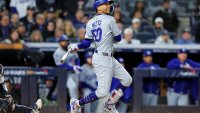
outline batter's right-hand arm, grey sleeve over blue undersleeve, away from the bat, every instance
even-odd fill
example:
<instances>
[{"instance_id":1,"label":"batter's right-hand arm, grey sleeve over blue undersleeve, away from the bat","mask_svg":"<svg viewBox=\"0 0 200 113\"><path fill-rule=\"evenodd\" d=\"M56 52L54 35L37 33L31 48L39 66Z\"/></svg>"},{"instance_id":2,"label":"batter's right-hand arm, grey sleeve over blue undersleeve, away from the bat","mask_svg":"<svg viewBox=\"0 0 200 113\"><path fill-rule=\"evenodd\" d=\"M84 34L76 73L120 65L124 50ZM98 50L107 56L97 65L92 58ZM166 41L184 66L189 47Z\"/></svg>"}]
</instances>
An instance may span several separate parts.
<instances>
[{"instance_id":1,"label":"batter's right-hand arm, grey sleeve over blue undersleeve, away from the bat","mask_svg":"<svg viewBox=\"0 0 200 113\"><path fill-rule=\"evenodd\" d=\"M114 40L117 41L117 42L120 42L121 41L121 31L119 30L119 28L117 27L117 24L116 24L116 21L114 18L111 19L111 30L112 30L112 33L114 35Z\"/></svg>"}]
</instances>

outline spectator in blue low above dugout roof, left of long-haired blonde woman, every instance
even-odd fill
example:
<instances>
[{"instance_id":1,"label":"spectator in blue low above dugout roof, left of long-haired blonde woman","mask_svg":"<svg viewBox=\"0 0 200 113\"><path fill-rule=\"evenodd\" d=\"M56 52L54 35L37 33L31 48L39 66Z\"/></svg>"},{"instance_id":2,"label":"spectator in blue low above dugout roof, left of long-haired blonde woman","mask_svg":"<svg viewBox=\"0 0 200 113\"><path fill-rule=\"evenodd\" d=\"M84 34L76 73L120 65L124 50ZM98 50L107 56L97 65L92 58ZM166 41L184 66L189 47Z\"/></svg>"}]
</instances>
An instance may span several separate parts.
<instances>
[{"instance_id":1,"label":"spectator in blue low above dugout roof, left of long-haired blonde woman","mask_svg":"<svg viewBox=\"0 0 200 113\"><path fill-rule=\"evenodd\" d=\"M54 37L46 39L46 42L58 42L62 35L64 35L64 31L62 29L56 29Z\"/></svg>"}]
</instances>

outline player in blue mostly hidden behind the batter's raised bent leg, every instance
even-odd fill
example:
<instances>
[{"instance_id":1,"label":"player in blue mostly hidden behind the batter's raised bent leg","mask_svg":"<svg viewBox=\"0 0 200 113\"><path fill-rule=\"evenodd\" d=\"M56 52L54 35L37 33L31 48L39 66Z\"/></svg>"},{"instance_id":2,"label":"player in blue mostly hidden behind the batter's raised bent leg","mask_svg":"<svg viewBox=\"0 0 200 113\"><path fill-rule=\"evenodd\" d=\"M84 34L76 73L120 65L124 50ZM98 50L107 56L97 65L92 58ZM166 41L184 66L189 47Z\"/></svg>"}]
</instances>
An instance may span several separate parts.
<instances>
[{"instance_id":1,"label":"player in blue mostly hidden behind the batter's raised bent leg","mask_svg":"<svg viewBox=\"0 0 200 113\"><path fill-rule=\"evenodd\" d=\"M117 61L123 66L125 67L124 64L124 59L123 58L117 58ZM120 84L120 81L116 78L112 78L112 83L111 83L111 88L110 91L114 91L115 88L117 87L117 85ZM133 96L133 87L129 86L125 91L123 96L121 97L121 99L119 100L118 106L117 106L117 110L119 111L119 113L127 113L127 109L128 109L128 103L130 103L132 101L132 96Z\"/></svg>"}]
</instances>

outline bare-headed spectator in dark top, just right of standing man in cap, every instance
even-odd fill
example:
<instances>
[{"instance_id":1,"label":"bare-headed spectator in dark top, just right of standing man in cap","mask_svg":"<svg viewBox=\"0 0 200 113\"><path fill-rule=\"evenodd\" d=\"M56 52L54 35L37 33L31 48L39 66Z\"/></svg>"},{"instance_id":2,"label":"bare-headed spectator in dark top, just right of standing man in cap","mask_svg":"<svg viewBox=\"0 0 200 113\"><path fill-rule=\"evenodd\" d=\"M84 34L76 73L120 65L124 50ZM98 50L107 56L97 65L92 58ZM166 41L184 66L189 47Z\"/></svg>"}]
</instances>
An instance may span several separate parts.
<instances>
[{"instance_id":1,"label":"bare-headed spectator in dark top, just right of standing man in cap","mask_svg":"<svg viewBox=\"0 0 200 113\"><path fill-rule=\"evenodd\" d=\"M36 24L32 26L31 31L40 30L40 32L43 33L44 29L45 29L45 16L43 14L37 14Z\"/></svg>"}]
</instances>

